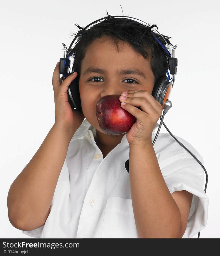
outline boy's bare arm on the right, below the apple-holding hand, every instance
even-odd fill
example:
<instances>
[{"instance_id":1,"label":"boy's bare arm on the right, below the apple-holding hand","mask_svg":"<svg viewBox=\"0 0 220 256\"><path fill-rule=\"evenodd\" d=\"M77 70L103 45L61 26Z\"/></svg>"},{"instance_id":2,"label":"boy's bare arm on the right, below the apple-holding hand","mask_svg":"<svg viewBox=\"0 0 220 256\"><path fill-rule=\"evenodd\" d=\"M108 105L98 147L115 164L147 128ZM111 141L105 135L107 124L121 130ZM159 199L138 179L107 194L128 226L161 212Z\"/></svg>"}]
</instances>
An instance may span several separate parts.
<instances>
[{"instance_id":1,"label":"boy's bare arm on the right, below the apple-holding hand","mask_svg":"<svg viewBox=\"0 0 220 256\"><path fill-rule=\"evenodd\" d=\"M139 238L182 238L192 194L165 183L153 145L130 145L129 175L132 206Z\"/></svg>"}]
</instances>

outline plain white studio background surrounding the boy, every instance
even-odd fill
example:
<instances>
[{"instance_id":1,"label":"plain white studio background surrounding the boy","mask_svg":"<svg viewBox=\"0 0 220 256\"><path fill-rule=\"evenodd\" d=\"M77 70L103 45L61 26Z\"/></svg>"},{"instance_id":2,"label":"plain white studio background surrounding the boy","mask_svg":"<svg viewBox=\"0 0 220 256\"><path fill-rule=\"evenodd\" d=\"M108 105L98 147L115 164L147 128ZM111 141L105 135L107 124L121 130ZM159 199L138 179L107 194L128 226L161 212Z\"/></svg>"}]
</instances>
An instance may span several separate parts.
<instances>
[{"instance_id":1,"label":"plain white studio background surrounding the boy","mask_svg":"<svg viewBox=\"0 0 220 256\"><path fill-rule=\"evenodd\" d=\"M75 3L74 3L75 2ZM110 15L158 25L177 44L179 60L164 123L188 141L208 172L207 226L200 238L219 238L219 1L4 1L1 4L1 238L30 238L8 220L10 184L54 125L52 74L77 23ZM71 61L72 62L72 61ZM72 68L72 63L71 63ZM159 120L160 121L160 120ZM158 121L158 122L159 122ZM162 125L160 132L167 132ZM196 161L196 160L195 160ZM199 163L198 163L199 164ZM206 176L204 173L204 186ZM193 238L197 238L196 234Z\"/></svg>"}]
</instances>

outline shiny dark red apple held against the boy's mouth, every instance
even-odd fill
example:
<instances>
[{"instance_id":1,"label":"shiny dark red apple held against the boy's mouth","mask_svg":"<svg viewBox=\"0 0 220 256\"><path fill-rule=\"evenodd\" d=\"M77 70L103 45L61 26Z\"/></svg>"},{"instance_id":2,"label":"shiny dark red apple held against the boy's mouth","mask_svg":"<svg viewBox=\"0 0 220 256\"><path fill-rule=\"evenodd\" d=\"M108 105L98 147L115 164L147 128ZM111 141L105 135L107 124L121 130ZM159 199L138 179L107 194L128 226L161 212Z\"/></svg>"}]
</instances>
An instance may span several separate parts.
<instances>
[{"instance_id":1,"label":"shiny dark red apple held against the boy's mouth","mask_svg":"<svg viewBox=\"0 0 220 256\"><path fill-rule=\"evenodd\" d=\"M135 116L121 107L120 96L119 94L106 95L96 103L96 117L99 127L107 134L124 134L131 129L137 120Z\"/></svg>"}]
</instances>

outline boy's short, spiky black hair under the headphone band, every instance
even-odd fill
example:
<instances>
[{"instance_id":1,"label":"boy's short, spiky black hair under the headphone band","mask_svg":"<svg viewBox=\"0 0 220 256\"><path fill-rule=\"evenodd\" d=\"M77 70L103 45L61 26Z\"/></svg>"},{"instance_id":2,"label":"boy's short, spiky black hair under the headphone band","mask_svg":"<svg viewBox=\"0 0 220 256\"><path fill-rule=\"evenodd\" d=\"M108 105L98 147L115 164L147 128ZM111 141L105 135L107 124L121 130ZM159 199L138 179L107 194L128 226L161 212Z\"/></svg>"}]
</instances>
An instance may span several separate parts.
<instances>
[{"instance_id":1,"label":"boy's short, spiky black hair under the headphone band","mask_svg":"<svg viewBox=\"0 0 220 256\"><path fill-rule=\"evenodd\" d=\"M80 27L76 23L74 24L79 30L77 33L72 33L70 35L73 37L77 36L75 41L76 44L70 49L70 52L74 52L72 71L77 72L78 81L80 79L81 61L85 57L88 45L91 44L94 39L100 38L102 34L111 37L116 44L117 49L119 40L122 40L129 43L132 48L145 59L147 58L154 74L154 83L159 77L166 75L166 70L168 70L169 67L168 55L159 45L159 42L154 38L152 33L156 35L166 49L166 42L169 46L172 45L169 41L171 37L162 34L166 40L165 42L159 33L153 32L153 28L157 27L157 25L147 26L129 18L115 18L109 15L108 12L104 18L105 19L101 22L96 23L87 29Z\"/></svg>"}]
</instances>

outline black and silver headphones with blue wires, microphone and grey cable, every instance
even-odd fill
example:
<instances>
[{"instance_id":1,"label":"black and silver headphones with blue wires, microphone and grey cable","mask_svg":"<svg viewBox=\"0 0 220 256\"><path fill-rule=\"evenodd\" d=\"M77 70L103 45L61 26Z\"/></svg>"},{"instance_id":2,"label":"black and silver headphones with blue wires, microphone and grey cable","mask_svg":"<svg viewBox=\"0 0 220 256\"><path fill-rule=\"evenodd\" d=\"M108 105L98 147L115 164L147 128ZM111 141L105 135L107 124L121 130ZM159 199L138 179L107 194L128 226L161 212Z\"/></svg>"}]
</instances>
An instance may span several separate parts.
<instances>
[{"instance_id":1,"label":"black and silver headphones with blue wires, microphone and grey cable","mask_svg":"<svg viewBox=\"0 0 220 256\"><path fill-rule=\"evenodd\" d=\"M108 17L127 17L130 18L128 20L132 20L132 19L136 19L136 18L133 18L133 17L129 17L129 16L111 16L111 15L108 15L107 17L105 18L101 18L101 19L97 19L95 20L94 22L90 23L89 25L87 25L86 27L82 28L81 30L85 30L87 27L89 27L90 25L92 24L95 24L97 22L99 22L100 20L103 20L103 19L108 19ZM132 19L131 19L132 18ZM140 20L140 19L136 19L136 20ZM140 20L142 22L144 22L143 20ZM139 22L133 20L133 22L136 22L138 24L140 24ZM146 23L146 22L144 22ZM146 23L147 24L147 23ZM149 24L148 24L149 25ZM150 26L150 25L149 25ZM153 28L155 29L155 28ZM151 29L151 33L153 32L153 29ZM157 29L155 29L157 31ZM158 32L158 31L157 31ZM159 32L158 32L159 33ZM160 33L159 33L160 34ZM166 128L166 130L170 133L170 135L182 146L184 147L188 152L189 154L191 154L195 159L196 161L202 166L202 168L204 169L205 171L205 174L206 174L206 183L205 183L205 193L206 193L206 187L207 187L207 184L208 184L208 174L206 172L206 169L205 167L202 165L202 163L199 161L199 159L192 154L191 151L188 150L187 147L185 147L180 141L177 140L177 138L174 137L174 135L168 130L168 128L166 127L166 125L164 124L163 122L163 119L164 119L164 116L165 114L167 113L167 111L172 107L172 102L169 100L169 97L170 97L170 94L171 94L171 90L173 88L173 85L174 85L174 80L175 80L175 74L176 74L176 71L177 71L177 66L178 66L178 59L174 57L174 52L175 52L175 49L177 47L177 45L175 45L172 49L172 55L171 55L171 51L170 51L170 47L169 45L167 44L165 38L162 36L162 38L164 39L164 41L166 42L166 45L169 49L169 51L165 48L165 46L161 43L161 41L152 33L152 35L154 36L154 38L158 41L158 43L160 44L160 46L164 49L164 51L166 52L166 54L168 55L168 62L169 62L169 70L170 70L170 74L172 74L172 78L170 79L170 75L169 75L169 72L168 70L166 71L166 74L167 76L161 76L154 84L154 87L153 87L153 91L151 93L151 95L153 96L153 98L155 100L157 100L158 102L160 102L161 106L162 106L162 109L164 109L163 111L163 116L161 118L160 116L160 125L159 125L159 128L158 128L158 131L157 131L157 134L154 138L154 141L153 141L153 145L157 139L157 136L159 134L159 131L160 131L160 128L161 128L161 125L163 123L164 127ZM76 40L76 38L78 37L78 34L75 36L75 38L73 39L73 41L71 42L70 46L69 46L69 49L67 49L66 45L64 43L62 43L63 47L64 47L64 58L60 58L60 74L62 74L62 81L64 79L66 79L69 75L71 75L73 73L73 67L72 67L72 72L68 73L69 69L70 68L70 56L73 55L73 51L70 51L71 49L71 46L73 45L73 42ZM66 56L65 56L66 54ZM171 80L171 81L170 81ZM78 79L74 79L69 87L68 87L68 90L67 90L67 95L68 95L68 101L70 103L70 106L72 109L75 109L76 111L79 111L79 112L82 112L82 106L81 106L81 100L80 100L80 92L79 92L79 78ZM129 173L129 159L125 162L125 168L127 170L127 172ZM200 232L198 233L198 238L200 236Z\"/></svg>"}]
</instances>

